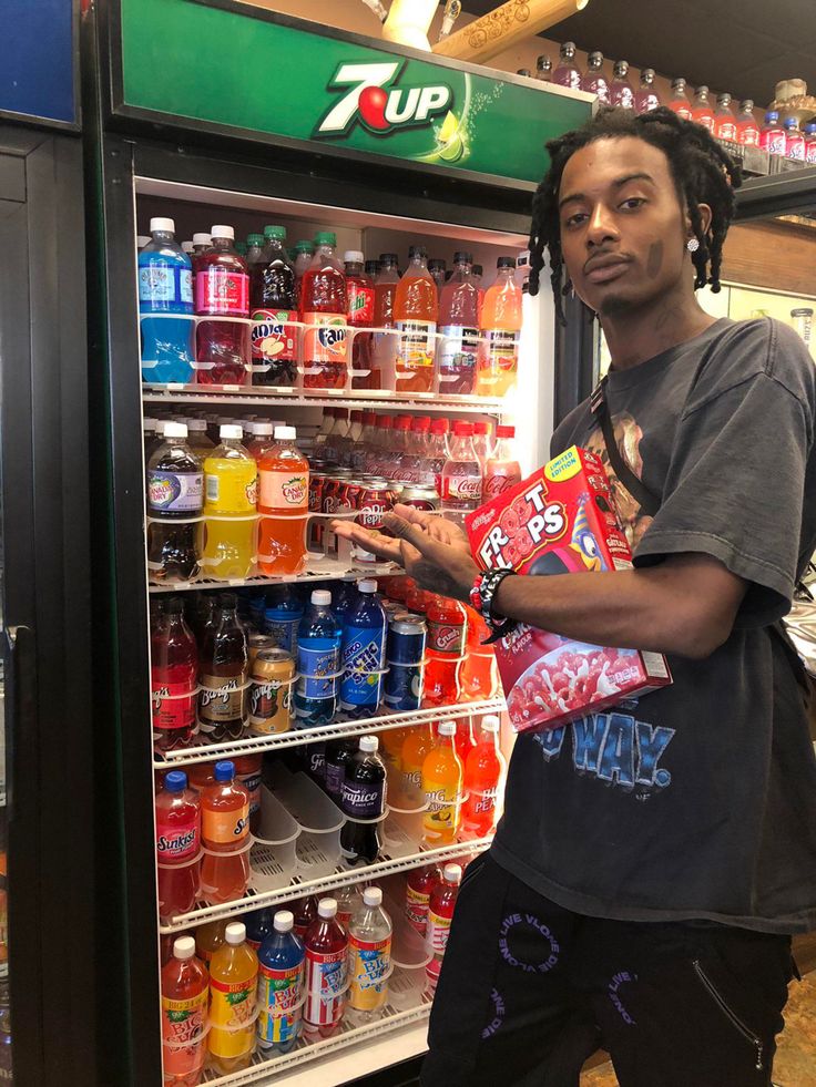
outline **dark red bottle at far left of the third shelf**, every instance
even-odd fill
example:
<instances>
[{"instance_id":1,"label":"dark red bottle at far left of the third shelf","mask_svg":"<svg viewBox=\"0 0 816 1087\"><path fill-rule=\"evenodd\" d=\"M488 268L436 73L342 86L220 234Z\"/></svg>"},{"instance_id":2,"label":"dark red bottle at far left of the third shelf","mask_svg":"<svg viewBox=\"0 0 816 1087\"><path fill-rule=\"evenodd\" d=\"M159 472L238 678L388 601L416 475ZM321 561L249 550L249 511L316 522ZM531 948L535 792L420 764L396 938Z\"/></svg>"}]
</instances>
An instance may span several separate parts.
<instances>
[{"instance_id":1,"label":"dark red bottle at far left of the third shelf","mask_svg":"<svg viewBox=\"0 0 816 1087\"><path fill-rule=\"evenodd\" d=\"M187 747L195 734L198 650L176 597L164 608L150 637L153 746L156 751Z\"/></svg>"}]
</instances>

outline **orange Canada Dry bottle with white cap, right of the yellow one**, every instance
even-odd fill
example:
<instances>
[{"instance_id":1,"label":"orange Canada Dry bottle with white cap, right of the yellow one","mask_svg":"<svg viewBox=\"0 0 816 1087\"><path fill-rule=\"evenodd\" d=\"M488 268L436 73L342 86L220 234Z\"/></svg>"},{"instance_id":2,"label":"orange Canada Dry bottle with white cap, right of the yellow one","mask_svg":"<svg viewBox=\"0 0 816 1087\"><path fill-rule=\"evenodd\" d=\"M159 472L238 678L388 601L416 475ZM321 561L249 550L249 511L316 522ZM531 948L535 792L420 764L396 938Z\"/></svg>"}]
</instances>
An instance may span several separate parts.
<instances>
[{"instance_id":1,"label":"orange Canada Dry bottle with white cap, right of the yellow one","mask_svg":"<svg viewBox=\"0 0 816 1087\"><path fill-rule=\"evenodd\" d=\"M275 444L258 462L258 568L269 576L306 568L309 462L296 439L294 427L276 427Z\"/></svg>"}]
</instances>

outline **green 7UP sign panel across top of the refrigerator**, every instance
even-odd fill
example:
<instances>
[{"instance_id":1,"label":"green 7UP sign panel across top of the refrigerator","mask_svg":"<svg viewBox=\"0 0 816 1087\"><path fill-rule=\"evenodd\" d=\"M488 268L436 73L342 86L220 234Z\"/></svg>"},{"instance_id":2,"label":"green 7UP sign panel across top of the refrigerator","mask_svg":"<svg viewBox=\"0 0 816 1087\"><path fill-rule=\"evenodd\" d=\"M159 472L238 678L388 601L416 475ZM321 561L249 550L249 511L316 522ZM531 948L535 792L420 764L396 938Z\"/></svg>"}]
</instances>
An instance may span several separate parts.
<instances>
[{"instance_id":1,"label":"green 7UP sign panel across top of the refrigerator","mask_svg":"<svg viewBox=\"0 0 816 1087\"><path fill-rule=\"evenodd\" d=\"M521 182L590 114L589 101L306 22L193 0L121 10L124 104L141 110Z\"/></svg>"}]
</instances>

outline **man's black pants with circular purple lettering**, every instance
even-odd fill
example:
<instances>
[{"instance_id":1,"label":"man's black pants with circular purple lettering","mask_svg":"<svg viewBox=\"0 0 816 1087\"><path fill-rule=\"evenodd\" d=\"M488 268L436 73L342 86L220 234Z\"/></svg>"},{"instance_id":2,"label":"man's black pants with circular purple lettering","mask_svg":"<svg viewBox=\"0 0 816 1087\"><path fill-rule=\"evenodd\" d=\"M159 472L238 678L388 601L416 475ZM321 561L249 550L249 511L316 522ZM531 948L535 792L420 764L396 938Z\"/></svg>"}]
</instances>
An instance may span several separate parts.
<instances>
[{"instance_id":1,"label":"man's black pants with circular purple lettering","mask_svg":"<svg viewBox=\"0 0 816 1087\"><path fill-rule=\"evenodd\" d=\"M424 1087L578 1087L608 1049L621 1087L769 1087L790 940L563 910L477 858L431 1009Z\"/></svg>"}]
</instances>

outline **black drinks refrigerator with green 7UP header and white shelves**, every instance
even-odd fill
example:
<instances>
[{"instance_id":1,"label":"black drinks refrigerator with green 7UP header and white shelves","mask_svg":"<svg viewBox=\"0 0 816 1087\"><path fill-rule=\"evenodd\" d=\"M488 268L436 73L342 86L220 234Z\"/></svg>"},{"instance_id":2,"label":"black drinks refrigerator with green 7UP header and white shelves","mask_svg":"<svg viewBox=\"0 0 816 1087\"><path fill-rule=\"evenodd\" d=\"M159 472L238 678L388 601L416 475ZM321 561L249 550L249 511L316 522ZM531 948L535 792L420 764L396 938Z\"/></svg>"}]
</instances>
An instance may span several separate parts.
<instances>
[{"instance_id":1,"label":"black drinks refrigerator with green 7UP header and white shelves","mask_svg":"<svg viewBox=\"0 0 816 1087\"><path fill-rule=\"evenodd\" d=\"M396 901L406 873L429 861L472 857L489 838L429 847L421 834L411 838L406 831L400 839L396 832L375 863L348 870L332 861L327 837L317 853L325 847L322 855L329 862L315 866L315 839L320 831L332 834L330 819L315 827L300 818L293 832L302 835L294 862L292 854L282 858L279 839L286 835L279 833L271 863L264 866L264 854L257 865L253 861L253 882L241 899L218 904L202 899L186 913L160 921L154 788L164 771L190 772L214 757L255 753L264 756L266 775L269 760L292 759L307 741L363 732L381 737L391 728L453 720L462 716L462 705L380 711L363 722L155 752L151 605L169 591L184 597L215 594L225 585L194 581L167 587L151 581L144 419L203 412L217 425L218 417L252 414L286 421L309 437L324 409L338 404L504 420L517 428L521 468L528 472L548 459L552 427L572 406L581 380L575 375L592 350L592 329L581 331L575 324L555 329L542 276L538 298L524 298L519 383L506 398L447 394L438 383L425 394L397 396L387 381L381 390L326 392L304 389L299 381L292 389L262 388L251 376L235 386L162 386L140 372L136 238L154 216L174 221L178 242L212 224L232 225L236 238L278 224L287 228L288 244L330 229L340 254L395 252L402 266L416 243L447 259L448 267L453 253L467 248L492 274L498 257L520 257L527 248L545 140L589 116L592 99L230 0L101 2L85 12L82 32L91 463L98 468L92 520L102 542L94 565L100 586L94 681L106 722L100 756L112 768L111 832L99 848L123 925L103 958L109 976L118 980L110 997L120 1025L105 1053L105 1071L106 1081L147 1087L162 1083L160 964L174 936L364 880L376 881ZM360 102L367 88L382 91L384 98L369 95L369 102L385 102L386 112L375 110L366 121ZM298 581L330 585L348 572L381 577L389 567L360 566L344 552L332 553L312 558ZM253 576L227 587L266 589L273 582ZM477 720L502 710L498 693L467 707ZM512 742L507 728L502 742L507 748ZM283 788L277 796L286 798ZM247 1067L226 1075L205 1069L202 1083L328 1087L369 1075L373 1084L409 1081L425 1048L430 998L419 983L421 948L405 934L398 939L397 927L395 920L394 957L401 965L395 966L389 1002L378 1017L363 1025L344 1022L333 1036L300 1043L287 1054L258 1052Z\"/></svg>"}]
</instances>

